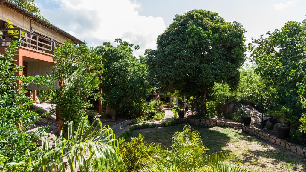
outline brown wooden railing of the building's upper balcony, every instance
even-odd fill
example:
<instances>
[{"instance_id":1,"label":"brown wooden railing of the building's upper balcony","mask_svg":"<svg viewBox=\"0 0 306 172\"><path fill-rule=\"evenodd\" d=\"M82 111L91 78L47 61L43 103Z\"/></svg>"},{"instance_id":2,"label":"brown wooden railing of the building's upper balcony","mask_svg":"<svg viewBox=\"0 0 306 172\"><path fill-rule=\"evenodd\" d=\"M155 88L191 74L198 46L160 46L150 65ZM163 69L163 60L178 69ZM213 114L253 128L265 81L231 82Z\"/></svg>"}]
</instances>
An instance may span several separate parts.
<instances>
[{"instance_id":1,"label":"brown wooden railing of the building's upper balcony","mask_svg":"<svg viewBox=\"0 0 306 172\"><path fill-rule=\"evenodd\" d=\"M28 32L22 28L0 28L0 31L2 32L0 33L0 46L10 45L12 40L22 40L20 47L26 47L48 54L53 54L55 48L62 46L56 41ZM11 35L7 31L16 31L16 34Z\"/></svg>"}]
</instances>

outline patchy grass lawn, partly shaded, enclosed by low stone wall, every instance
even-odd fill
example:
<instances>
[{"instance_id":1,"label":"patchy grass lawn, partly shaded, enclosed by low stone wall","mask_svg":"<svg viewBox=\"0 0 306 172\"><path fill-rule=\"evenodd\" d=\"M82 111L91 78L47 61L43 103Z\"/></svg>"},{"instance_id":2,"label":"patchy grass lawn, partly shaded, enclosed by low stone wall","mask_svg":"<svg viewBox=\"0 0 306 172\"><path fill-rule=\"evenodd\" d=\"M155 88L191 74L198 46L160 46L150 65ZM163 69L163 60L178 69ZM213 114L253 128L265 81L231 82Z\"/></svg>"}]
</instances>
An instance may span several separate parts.
<instances>
[{"instance_id":1,"label":"patchy grass lawn, partly shaded, enclosed by low stone wall","mask_svg":"<svg viewBox=\"0 0 306 172\"><path fill-rule=\"evenodd\" d=\"M181 131L183 127L184 125L175 125L140 129L135 130L131 136L137 136L140 133L144 136L146 143L162 143L170 148L172 134L175 131ZM254 136L243 134L241 130L218 126L212 128L192 126L192 128L200 131L203 144L210 148L207 153L221 150L234 151L241 158L242 166L248 167L252 172L306 171L304 157L261 141Z\"/></svg>"}]
</instances>

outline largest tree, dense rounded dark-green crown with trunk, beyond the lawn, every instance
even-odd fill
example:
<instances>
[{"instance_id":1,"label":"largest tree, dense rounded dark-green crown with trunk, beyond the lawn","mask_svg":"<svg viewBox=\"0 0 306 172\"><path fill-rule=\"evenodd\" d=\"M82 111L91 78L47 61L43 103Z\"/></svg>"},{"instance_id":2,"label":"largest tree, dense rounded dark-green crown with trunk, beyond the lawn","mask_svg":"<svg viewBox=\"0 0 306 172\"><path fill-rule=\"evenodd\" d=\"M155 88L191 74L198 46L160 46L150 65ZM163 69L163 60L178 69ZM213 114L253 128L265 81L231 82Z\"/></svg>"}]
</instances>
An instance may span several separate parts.
<instances>
[{"instance_id":1,"label":"largest tree, dense rounded dark-green crown with trunk, beyond the lawn","mask_svg":"<svg viewBox=\"0 0 306 172\"><path fill-rule=\"evenodd\" d=\"M149 77L159 88L170 85L182 95L198 100L200 114L214 83L237 88L239 68L245 61L241 24L226 22L217 13L192 10L176 15L173 23L157 39L157 50L147 50Z\"/></svg>"}]
</instances>

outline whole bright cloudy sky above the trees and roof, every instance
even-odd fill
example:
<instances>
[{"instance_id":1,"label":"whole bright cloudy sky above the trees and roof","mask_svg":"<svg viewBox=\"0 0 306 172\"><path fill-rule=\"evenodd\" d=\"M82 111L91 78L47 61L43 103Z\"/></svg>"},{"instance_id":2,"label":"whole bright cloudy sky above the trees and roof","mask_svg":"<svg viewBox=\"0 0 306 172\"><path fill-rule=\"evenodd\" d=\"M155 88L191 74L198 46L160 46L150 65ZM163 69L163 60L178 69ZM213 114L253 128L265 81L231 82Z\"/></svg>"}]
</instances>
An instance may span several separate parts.
<instances>
[{"instance_id":1,"label":"whole bright cloudy sky above the trees and roof","mask_svg":"<svg viewBox=\"0 0 306 172\"><path fill-rule=\"evenodd\" d=\"M210 10L246 29L246 44L287 21L306 19L305 0L36 0L41 15L52 24L86 41L89 47L116 38L140 45L138 57L156 48L157 37L176 14ZM249 55L249 53L247 53Z\"/></svg>"}]
</instances>

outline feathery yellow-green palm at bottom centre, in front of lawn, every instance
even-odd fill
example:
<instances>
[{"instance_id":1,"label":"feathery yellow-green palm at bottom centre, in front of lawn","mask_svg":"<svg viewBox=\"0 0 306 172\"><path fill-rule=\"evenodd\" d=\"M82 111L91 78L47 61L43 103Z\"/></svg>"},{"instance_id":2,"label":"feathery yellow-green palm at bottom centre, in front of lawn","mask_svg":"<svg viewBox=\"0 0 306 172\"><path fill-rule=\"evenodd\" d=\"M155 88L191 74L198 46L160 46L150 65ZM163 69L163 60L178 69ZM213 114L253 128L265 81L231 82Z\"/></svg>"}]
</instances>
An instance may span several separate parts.
<instances>
[{"instance_id":1,"label":"feathery yellow-green palm at bottom centre, in front of lawn","mask_svg":"<svg viewBox=\"0 0 306 172\"><path fill-rule=\"evenodd\" d=\"M175 132L171 149L162 144L147 145L150 156L143 159L144 166L139 172L246 172L239 167L240 159L233 152L219 151L207 155L200 133L185 125L183 131Z\"/></svg>"}]
</instances>

